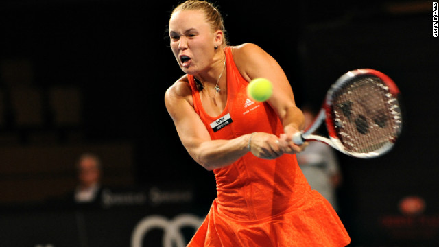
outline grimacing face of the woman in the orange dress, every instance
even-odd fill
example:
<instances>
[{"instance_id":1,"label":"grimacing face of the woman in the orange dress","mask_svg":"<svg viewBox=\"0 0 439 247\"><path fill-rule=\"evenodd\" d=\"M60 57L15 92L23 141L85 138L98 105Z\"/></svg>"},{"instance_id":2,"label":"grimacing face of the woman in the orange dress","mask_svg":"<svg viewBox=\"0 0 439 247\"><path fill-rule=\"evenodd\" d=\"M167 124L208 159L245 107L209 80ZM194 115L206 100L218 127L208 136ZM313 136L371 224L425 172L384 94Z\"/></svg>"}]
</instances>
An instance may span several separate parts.
<instances>
[{"instance_id":1,"label":"grimacing face of the woman in the orange dress","mask_svg":"<svg viewBox=\"0 0 439 247\"><path fill-rule=\"evenodd\" d=\"M195 75L208 69L217 45L215 33L201 10L181 10L171 16L171 49L182 71Z\"/></svg>"}]
</instances>

